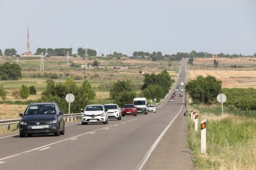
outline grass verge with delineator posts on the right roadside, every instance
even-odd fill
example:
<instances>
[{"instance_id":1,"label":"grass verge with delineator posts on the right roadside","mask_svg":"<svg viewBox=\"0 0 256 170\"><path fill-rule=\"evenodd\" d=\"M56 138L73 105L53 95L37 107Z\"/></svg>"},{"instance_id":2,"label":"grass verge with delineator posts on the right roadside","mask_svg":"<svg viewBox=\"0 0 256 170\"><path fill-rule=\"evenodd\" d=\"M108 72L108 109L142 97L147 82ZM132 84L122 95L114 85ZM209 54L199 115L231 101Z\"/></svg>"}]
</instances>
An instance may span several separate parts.
<instances>
[{"instance_id":1,"label":"grass verge with delineator posts on the right roadside","mask_svg":"<svg viewBox=\"0 0 256 170\"><path fill-rule=\"evenodd\" d=\"M200 154L200 130L194 131L194 122L189 118L189 147L195 168L256 169L256 119L205 113L205 107L192 106L198 111L199 122L207 119L206 155Z\"/></svg>"}]
</instances>

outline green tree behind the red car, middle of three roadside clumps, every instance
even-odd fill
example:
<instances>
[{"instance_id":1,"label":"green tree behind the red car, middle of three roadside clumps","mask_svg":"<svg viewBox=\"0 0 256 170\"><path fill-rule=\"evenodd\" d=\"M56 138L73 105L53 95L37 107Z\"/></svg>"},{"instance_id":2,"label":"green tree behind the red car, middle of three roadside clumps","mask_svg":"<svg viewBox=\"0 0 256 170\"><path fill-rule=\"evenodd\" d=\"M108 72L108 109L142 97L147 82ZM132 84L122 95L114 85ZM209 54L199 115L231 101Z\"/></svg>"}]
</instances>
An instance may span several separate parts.
<instances>
[{"instance_id":1,"label":"green tree behind the red car, middle of three roadside clumps","mask_svg":"<svg viewBox=\"0 0 256 170\"><path fill-rule=\"evenodd\" d=\"M130 79L119 80L111 86L110 96L112 99L117 99L121 92L132 92L134 91L134 85Z\"/></svg>"}]
</instances>

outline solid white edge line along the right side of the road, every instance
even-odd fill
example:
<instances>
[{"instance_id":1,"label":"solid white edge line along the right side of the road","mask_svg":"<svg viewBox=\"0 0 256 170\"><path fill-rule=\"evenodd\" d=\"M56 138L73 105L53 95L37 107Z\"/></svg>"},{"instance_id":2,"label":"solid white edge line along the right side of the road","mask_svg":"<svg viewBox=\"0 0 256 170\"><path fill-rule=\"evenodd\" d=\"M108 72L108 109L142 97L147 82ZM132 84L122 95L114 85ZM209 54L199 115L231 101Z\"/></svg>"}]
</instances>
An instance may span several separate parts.
<instances>
[{"instance_id":1,"label":"solid white edge line along the right side of the road","mask_svg":"<svg viewBox=\"0 0 256 170\"><path fill-rule=\"evenodd\" d=\"M183 102L184 102L184 98L183 98ZM181 106L181 110L183 109L183 105ZM179 110L179 113L181 113L181 110ZM162 137L164 136L164 134L166 133L166 131L168 131L169 127L171 126L171 124L173 124L174 120L177 118L177 116L179 115L179 113L177 113L177 115L171 120L171 122L168 124L168 126L165 127L165 129L163 130L163 132L161 132L160 136L156 139L156 141L154 142L154 144L150 147L150 149L148 150L148 152L146 153L146 155L144 156L144 158L142 159L142 161L140 161L140 163L138 164L138 166L135 169L142 169L144 164L147 162L148 158L150 157L151 153L153 152L153 150L155 149L156 145L158 145L158 143L160 142L160 140L162 139Z\"/></svg>"}]
</instances>

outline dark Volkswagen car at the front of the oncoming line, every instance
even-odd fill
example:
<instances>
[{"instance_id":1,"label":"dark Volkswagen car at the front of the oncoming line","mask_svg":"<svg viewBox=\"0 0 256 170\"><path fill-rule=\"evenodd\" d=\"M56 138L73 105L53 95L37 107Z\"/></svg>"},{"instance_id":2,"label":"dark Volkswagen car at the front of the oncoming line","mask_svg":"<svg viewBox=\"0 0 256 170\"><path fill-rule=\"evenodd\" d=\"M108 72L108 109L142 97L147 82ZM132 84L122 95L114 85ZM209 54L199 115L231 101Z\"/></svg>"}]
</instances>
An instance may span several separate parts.
<instances>
[{"instance_id":1,"label":"dark Volkswagen car at the front of the oncoming line","mask_svg":"<svg viewBox=\"0 0 256 170\"><path fill-rule=\"evenodd\" d=\"M32 134L65 134L63 113L57 103L30 103L19 122L20 137Z\"/></svg>"}]
</instances>

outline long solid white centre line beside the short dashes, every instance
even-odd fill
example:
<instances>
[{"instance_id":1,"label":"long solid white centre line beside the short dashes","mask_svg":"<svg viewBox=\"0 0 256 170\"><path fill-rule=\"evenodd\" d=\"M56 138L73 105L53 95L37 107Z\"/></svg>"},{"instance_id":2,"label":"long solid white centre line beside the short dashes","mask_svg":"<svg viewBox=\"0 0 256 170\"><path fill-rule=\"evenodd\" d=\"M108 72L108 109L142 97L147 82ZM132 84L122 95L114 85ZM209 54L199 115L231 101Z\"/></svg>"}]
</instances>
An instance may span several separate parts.
<instances>
[{"instance_id":1,"label":"long solid white centre line beside the short dashes","mask_svg":"<svg viewBox=\"0 0 256 170\"><path fill-rule=\"evenodd\" d=\"M140 118L145 118L145 117L153 116L153 115L155 115L155 113L152 114L152 115L142 116L142 117L140 117ZM139 118L137 118L137 119L139 119ZM121 122L121 123L117 123L117 124L122 124L122 123L126 123L126 121ZM115 126L115 125L117 125L117 124L113 124L113 125L108 126L108 127L112 127L112 126ZM25 152L21 152L21 153L16 154L16 155L7 156L7 157L5 157L5 158L1 158L0 161L2 161L2 160L7 160L7 159L12 158L12 157L14 157L14 156L22 155L22 154L24 154L24 153L29 153L29 152L32 152L32 151L35 151L35 150L40 150L41 148L49 147L49 146L51 146L51 145L59 144L59 143L64 142L64 141L66 141L66 140L74 139L74 137L80 137L80 136L84 136L84 135L86 135L86 134L94 134L96 131L101 131L101 130L103 130L103 129L105 129L105 128L106 128L106 127L102 127L102 128L100 128L100 129L96 129L96 130L90 131L90 132L85 132L85 133L83 133L83 134L80 134L80 135L77 135L77 136L73 136L73 137L69 137L69 138L67 138L67 139L59 140L59 141L57 141L57 142L53 142L53 143L48 144L48 145L44 145L44 146L41 146L41 147L38 147L38 148L33 148L32 150L28 150L28 151L25 151Z\"/></svg>"}]
</instances>

